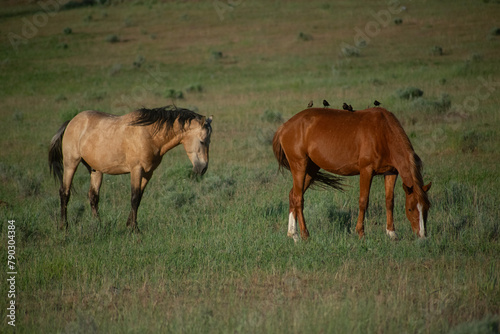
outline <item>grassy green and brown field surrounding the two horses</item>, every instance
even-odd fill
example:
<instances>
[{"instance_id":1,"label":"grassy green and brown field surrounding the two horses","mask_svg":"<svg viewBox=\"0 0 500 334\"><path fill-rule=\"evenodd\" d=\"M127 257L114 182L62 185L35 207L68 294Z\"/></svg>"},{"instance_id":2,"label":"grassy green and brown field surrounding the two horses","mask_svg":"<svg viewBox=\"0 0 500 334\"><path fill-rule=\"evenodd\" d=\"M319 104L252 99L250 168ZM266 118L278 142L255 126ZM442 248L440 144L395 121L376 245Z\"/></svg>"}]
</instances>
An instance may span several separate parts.
<instances>
[{"instance_id":1,"label":"grassy green and brown field surrounding the two horses","mask_svg":"<svg viewBox=\"0 0 500 334\"><path fill-rule=\"evenodd\" d=\"M499 333L498 1L109 2L1 5L0 332L15 220L16 333ZM427 239L400 180L385 235L376 178L359 240L357 177L308 191L311 238L287 238L270 142L311 99L399 118L433 182ZM80 168L57 230L62 122L172 102L214 116L207 174L167 153L135 235L128 175L105 176L98 222Z\"/></svg>"}]
</instances>

